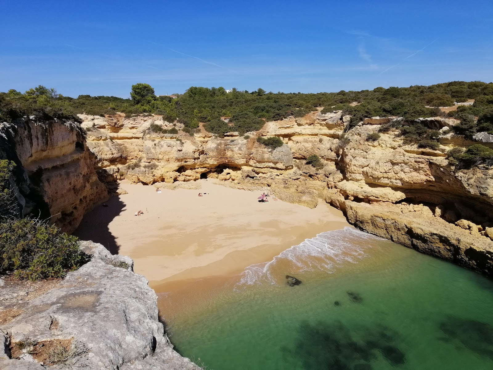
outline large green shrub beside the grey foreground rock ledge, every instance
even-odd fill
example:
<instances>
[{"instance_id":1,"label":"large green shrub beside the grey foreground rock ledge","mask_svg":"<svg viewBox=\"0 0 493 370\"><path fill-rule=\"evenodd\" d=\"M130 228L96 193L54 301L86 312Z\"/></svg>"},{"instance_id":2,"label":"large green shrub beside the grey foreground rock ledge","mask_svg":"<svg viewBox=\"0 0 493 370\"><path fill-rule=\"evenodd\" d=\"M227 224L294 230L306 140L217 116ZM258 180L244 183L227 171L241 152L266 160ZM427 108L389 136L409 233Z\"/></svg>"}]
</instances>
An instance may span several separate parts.
<instances>
[{"instance_id":1,"label":"large green shrub beside the grey foreground rock ledge","mask_svg":"<svg viewBox=\"0 0 493 370\"><path fill-rule=\"evenodd\" d=\"M0 223L0 274L15 273L22 279L59 278L86 263L78 239L55 225L37 220Z\"/></svg>"}]
</instances>

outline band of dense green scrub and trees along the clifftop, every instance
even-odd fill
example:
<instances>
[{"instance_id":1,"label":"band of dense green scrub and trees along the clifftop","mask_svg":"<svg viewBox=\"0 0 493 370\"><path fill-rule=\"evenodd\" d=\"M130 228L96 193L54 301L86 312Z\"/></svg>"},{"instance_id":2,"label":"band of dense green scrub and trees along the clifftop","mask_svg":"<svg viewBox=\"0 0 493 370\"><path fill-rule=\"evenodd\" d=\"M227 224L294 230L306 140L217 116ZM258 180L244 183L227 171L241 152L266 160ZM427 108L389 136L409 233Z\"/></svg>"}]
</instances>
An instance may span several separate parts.
<instances>
[{"instance_id":1,"label":"band of dense green scrub and trees along the clifftop","mask_svg":"<svg viewBox=\"0 0 493 370\"><path fill-rule=\"evenodd\" d=\"M493 83L480 81L317 94L267 93L260 88L252 92L232 89L227 93L222 87L190 87L176 99L157 96L150 85L137 83L132 86L130 95L131 99L89 95L70 98L44 86L30 89L24 94L9 90L0 93L0 120L11 121L27 114L73 118L78 113L154 113L163 115L170 122L178 119L184 124L185 132L192 133L199 127L199 122L203 122L206 130L221 136L228 131L238 131L244 135L259 130L265 121L300 117L315 111L317 107L324 107L322 112L342 110L352 116L346 131L363 117L402 116L410 121L418 117L448 115L461 119L461 124L456 128L456 133L460 135L472 138L476 132L493 133ZM467 99L475 99L474 104L460 106L457 111L448 113L437 108L426 108L451 106L454 102ZM477 122L474 121L475 116L479 117ZM221 117L229 118L229 124ZM422 141L433 140L422 138Z\"/></svg>"}]
</instances>

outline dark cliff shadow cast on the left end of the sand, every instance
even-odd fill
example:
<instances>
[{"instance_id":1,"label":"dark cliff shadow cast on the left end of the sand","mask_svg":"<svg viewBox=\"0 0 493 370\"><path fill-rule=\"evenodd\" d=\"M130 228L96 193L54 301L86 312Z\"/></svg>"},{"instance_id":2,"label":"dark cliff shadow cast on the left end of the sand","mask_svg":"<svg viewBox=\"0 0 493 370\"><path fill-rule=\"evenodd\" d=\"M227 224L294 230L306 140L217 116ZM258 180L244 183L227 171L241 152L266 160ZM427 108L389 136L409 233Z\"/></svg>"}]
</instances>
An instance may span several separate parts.
<instances>
[{"instance_id":1,"label":"dark cliff shadow cast on the left end of the sand","mask_svg":"<svg viewBox=\"0 0 493 370\"><path fill-rule=\"evenodd\" d=\"M117 255L120 246L109 231L109 223L125 209L125 203L120 200L120 197L112 196L103 204L97 205L84 216L73 235L81 240L92 240L102 244L112 255Z\"/></svg>"}]
</instances>

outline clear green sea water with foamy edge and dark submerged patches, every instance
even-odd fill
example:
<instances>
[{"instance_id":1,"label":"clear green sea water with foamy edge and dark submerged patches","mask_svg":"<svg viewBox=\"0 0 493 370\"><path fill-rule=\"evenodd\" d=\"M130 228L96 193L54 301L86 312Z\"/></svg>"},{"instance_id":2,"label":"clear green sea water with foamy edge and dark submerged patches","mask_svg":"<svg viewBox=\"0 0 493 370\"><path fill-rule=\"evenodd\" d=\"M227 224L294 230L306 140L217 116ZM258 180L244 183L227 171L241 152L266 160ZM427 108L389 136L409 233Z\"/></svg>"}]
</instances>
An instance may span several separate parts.
<instances>
[{"instance_id":1,"label":"clear green sea water with foamy edge and dark submerged patches","mask_svg":"<svg viewBox=\"0 0 493 370\"><path fill-rule=\"evenodd\" d=\"M248 267L167 325L209 370L493 370L492 307L491 280L347 227Z\"/></svg>"}]
</instances>

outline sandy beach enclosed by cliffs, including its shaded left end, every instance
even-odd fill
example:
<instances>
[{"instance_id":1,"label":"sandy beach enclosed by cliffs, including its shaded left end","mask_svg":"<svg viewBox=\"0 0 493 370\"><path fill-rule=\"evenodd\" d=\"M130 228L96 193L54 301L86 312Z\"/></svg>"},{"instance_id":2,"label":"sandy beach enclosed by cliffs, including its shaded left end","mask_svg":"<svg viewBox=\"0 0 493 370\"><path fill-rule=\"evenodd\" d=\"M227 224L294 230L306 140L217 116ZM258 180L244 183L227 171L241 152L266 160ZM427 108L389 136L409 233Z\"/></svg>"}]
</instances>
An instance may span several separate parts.
<instances>
[{"instance_id":1,"label":"sandy beach enclosed by cliffs, including its shaded left end","mask_svg":"<svg viewBox=\"0 0 493 370\"><path fill-rule=\"evenodd\" d=\"M130 256L135 272L157 287L239 274L317 233L349 225L340 211L322 201L315 209L272 197L259 203L262 191L200 182L199 190L160 193L158 184L122 182L128 194L88 213L75 235ZM135 216L140 210L143 215Z\"/></svg>"}]
</instances>

